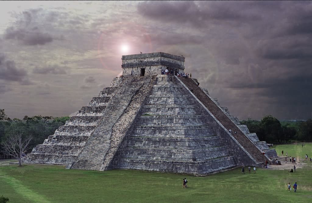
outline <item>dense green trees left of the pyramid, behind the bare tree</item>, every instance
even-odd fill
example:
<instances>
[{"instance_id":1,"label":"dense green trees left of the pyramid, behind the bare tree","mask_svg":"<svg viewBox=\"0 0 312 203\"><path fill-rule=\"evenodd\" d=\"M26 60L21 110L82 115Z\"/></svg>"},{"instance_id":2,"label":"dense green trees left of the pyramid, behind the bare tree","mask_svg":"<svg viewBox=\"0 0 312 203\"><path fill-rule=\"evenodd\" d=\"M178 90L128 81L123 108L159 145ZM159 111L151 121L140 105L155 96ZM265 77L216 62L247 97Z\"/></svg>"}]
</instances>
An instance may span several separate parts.
<instances>
[{"instance_id":1,"label":"dense green trees left of the pyramid, behind the bare tree","mask_svg":"<svg viewBox=\"0 0 312 203\"><path fill-rule=\"evenodd\" d=\"M4 143L12 135L22 134L24 138L32 137L28 144L31 152L32 148L37 144L42 144L49 136L53 135L55 130L64 125L70 117L52 117L52 116L25 116L22 120L18 118L8 118L4 113L4 109L0 109L0 158L5 155L2 152Z\"/></svg>"}]
</instances>

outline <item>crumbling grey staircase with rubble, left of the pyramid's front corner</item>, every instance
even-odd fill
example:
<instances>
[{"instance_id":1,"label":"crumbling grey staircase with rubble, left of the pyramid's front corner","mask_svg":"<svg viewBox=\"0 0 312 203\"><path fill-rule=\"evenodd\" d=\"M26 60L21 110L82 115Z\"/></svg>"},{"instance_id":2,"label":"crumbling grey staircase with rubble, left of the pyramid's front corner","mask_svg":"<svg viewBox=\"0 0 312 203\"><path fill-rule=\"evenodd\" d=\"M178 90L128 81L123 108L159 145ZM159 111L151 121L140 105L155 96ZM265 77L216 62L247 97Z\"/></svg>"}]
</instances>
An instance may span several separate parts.
<instances>
[{"instance_id":1,"label":"crumbling grey staircase with rubble, left of the pyramid's front corner","mask_svg":"<svg viewBox=\"0 0 312 203\"><path fill-rule=\"evenodd\" d=\"M129 128L129 123L132 122L133 118L129 118L124 123L118 123L118 121L129 111L129 108L131 109L133 106L136 106L137 109L140 108L141 104L133 104L135 96L140 91L142 92L151 81L151 76L144 76L124 77L122 83L118 82L119 88L116 90L114 97L108 102L98 124L99 127L92 133L84 149L70 168L106 170L106 167L109 166L115 156L116 150L114 149L118 148L118 144L123 140L124 136L124 134L121 136L120 133L115 136L115 131L118 131L119 128ZM105 96L105 93L101 92L100 94ZM135 115L135 112L130 113ZM126 131L127 129L123 129L123 133Z\"/></svg>"}]
</instances>

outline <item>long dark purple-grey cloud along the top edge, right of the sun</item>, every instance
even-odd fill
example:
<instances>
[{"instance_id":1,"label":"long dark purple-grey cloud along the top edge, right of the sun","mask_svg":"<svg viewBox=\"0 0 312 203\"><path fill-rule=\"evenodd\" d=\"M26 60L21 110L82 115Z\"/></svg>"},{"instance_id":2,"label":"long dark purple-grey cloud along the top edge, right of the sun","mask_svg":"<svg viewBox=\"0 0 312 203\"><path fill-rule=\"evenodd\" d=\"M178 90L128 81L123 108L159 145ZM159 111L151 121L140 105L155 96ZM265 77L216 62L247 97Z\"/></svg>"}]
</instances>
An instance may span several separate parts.
<instances>
[{"instance_id":1,"label":"long dark purple-grey cloud along the top edge, right of the sun","mask_svg":"<svg viewBox=\"0 0 312 203\"><path fill-rule=\"evenodd\" d=\"M208 21L236 21L240 24L261 19L260 15L243 9L243 5L242 2L145 1L138 4L138 13L163 22L190 22L196 27L205 27Z\"/></svg>"}]
</instances>

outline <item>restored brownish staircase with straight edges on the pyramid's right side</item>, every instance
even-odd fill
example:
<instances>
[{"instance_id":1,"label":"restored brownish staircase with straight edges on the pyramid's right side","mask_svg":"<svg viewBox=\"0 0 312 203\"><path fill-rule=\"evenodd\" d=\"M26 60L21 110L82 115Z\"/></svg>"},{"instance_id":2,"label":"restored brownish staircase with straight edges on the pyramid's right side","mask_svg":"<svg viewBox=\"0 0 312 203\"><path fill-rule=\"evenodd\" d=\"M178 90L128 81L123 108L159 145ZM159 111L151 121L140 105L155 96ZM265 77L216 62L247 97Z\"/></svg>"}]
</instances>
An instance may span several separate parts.
<instances>
[{"instance_id":1,"label":"restored brownish staircase with straight edges on the pyramid's right side","mask_svg":"<svg viewBox=\"0 0 312 203\"><path fill-rule=\"evenodd\" d=\"M242 147L256 160L258 164L267 160L258 147L242 132L242 130L227 116L227 114L215 104L215 102L200 88L191 78L179 77L188 89L199 99L202 104L217 118L217 120L229 131ZM225 109L226 110L226 109ZM235 133L236 132L236 133Z\"/></svg>"}]
</instances>

